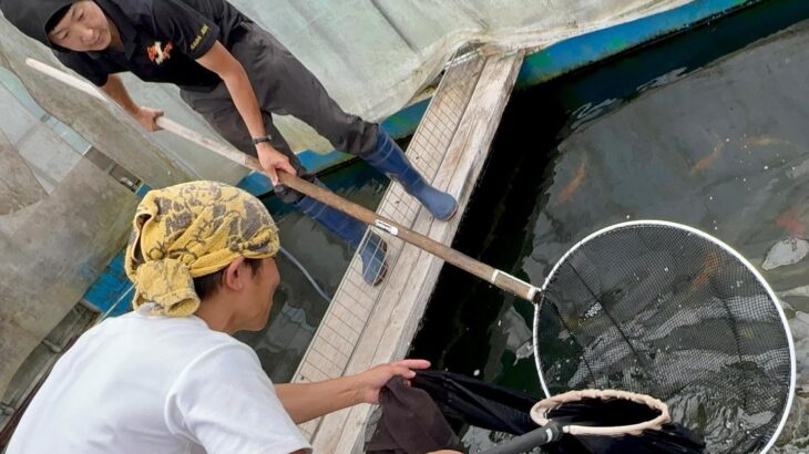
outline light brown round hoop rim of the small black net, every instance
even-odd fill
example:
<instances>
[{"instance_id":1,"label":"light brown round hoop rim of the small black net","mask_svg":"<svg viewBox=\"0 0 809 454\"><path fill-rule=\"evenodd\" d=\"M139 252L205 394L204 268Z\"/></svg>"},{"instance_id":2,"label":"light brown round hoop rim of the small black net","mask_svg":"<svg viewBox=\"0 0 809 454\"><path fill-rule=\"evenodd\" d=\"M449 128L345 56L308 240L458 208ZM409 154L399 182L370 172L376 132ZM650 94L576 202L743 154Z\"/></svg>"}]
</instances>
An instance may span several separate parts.
<instances>
[{"instance_id":1,"label":"light brown round hoop rim of the small black net","mask_svg":"<svg viewBox=\"0 0 809 454\"><path fill-rule=\"evenodd\" d=\"M564 432L571 435L639 435L645 430L659 430L663 424L672 421L672 416L668 414L668 405L663 403L660 400L655 399L651 395L638 394L628 391L618 390L581 390L581 391L569 391L562 394L554 395L552 398L543 399L537 402L531 409L531 419L539 425L543 426L552 422L547 417L547 413L569 402L577 402L584 399L624 399L633 402L644 404L651 409L655 409L660 412L657 417L629 425L615 425L607 427L593 427L586 425L566 425Z\"/></svg>"}]
</instances>

